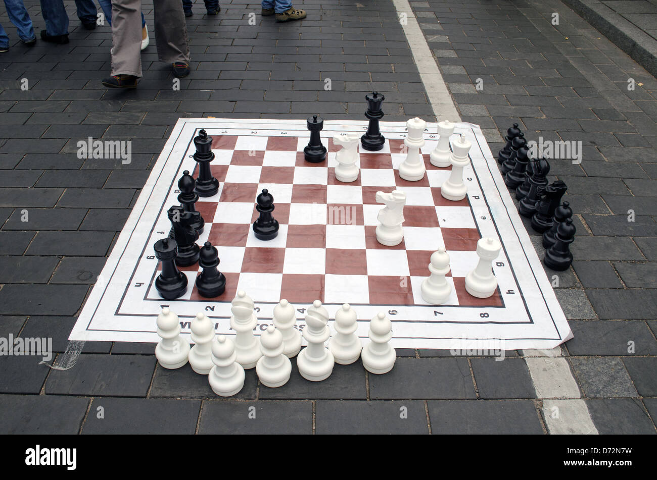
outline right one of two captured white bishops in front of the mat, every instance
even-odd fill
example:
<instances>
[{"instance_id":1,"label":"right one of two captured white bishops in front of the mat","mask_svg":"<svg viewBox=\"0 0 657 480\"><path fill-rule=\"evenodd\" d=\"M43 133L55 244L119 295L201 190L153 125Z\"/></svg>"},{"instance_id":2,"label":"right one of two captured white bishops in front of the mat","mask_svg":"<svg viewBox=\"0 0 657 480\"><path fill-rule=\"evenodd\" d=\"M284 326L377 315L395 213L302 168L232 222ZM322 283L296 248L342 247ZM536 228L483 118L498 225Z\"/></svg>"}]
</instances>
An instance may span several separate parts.
<instances>
[{"instance_id":1,"label":"right one of two captured white bishops in front of the mat","mask_svg":"<svg viewBox=\"0 0 657 480\"><path fill-rule=\"evenodd\" d=\"M333 372L333 354L324 346L330 336L327 323L327 309L322 306L322 302L315 300L306 311L304 338L308 346L296 357L299 373L312 382L325 380Z\"/></svg>"}]
</instances>

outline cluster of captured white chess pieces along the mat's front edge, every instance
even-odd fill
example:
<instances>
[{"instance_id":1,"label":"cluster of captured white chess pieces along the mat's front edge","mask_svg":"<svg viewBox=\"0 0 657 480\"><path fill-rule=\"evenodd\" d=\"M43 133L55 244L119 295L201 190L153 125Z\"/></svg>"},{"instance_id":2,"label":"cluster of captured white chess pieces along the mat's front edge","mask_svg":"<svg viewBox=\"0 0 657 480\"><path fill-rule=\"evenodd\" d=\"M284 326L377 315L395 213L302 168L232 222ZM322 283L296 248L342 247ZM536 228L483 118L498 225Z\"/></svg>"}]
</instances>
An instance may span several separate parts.
<instances>
[{"instance_id":1,"label":"cluster of captured white chess pieces along the mat's front edge","mask_svg":"<svg viewBox=\"0 0 657 480\"><path fill-rule=\"evenodd\" d=\"M281 300L274 308L273 323L260 335L253 332L258 325L254 302L243 290L237 293L231 306L231 329L235 342L225 335L216 335L214 324L205 313L199 312L191 323L191 347L181 334L178 316L169 308L158 315L158 335L162 340L155 348L155 356L162 367L179 369L189 361L194 372L208 375L212 390L222 397L230 397L244 386L244 369L256 367L260 382L267 387L280 387L290 380L292 363L297 356L299 373L313 382L325 380L333 371L334 363L348 365L362 357L363 366L374 374L389 372L394 366L396 352L390 346L392 323L385 313L374 316L369 324L371 342L363 347L355 334L357 317L349 304L344 304L335 315L336 335L330 338L328 311L315 300L306 311L303 337L308 346L301 350L302 333L295 329L294 306Z\"/></svg>"}]
</instances>

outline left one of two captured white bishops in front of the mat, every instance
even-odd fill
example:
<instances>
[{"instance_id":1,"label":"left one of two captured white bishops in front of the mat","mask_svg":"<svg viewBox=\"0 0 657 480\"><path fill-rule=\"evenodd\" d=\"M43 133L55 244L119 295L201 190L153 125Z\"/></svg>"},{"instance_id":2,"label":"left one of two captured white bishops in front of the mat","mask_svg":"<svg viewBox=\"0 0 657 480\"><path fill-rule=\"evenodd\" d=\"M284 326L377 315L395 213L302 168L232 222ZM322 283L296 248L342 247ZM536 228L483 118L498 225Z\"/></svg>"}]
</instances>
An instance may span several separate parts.
<instances>
[{"instance_id":1,"label":"left one of two captured white bishops in front of the mat","mask_svg":"<svg viewBox=\"0 0 657 480\"><path fill-rule=\"evenodd\" d=\"M231 302L231 329L235 330L235 352L237 363L245 370L252 369L262 356L260 353L260 338L254 336L253 330L258 325L258 318L254 313L253 300L244 293L237 292L237 296Z\"/></svg>"}]
</instances>

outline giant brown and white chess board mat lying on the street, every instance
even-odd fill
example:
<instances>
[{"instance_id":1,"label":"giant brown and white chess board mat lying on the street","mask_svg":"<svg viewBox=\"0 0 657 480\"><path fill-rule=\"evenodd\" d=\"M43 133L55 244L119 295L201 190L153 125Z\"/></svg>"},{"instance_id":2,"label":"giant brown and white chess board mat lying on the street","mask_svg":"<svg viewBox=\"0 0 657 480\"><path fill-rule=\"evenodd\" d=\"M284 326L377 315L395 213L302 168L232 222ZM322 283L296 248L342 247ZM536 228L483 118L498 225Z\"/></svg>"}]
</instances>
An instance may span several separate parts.
<instances>
[{"instance_id":1,"label":"giant brown and white chess board mat lying on the street","mask_svg":"<svg viewBox=\"0 0 657 480\"><path fill-rule=\"evenodd\" d=\"M171 229L166 211L179 204L177 182L183 170L198 173L193 138L201 129L213 138L212 172L221 185L217 195L196 203L206 222L197 243L209 240L217 247L227 287L217 298L200 296L194 286L200 271L196 264L180 268L189 279L187 292L164 300L154 287L161 266L153 245ZM470 165L464 169L468 195L456 202L440 194L451 167L429 163L438 144L436 123L428 123L424 132L426 176L421 181L403 180L397 170L405 158L405 123L381 122L384 149L359 147L359 178L338 182L339 148L332 136L366 129L365 121L325 121L321 137L328 158L315 164L304 161L305 120L179 119L70 339L156 342L156 317L163 306L179 315L185 335L198 311L215 321L217 333L234 334L231 300L245 290L256 304L257 332L272 324L274 306L286 298L298 311L298 329L313 300L321 300L330 315L351 304L362 338L367 338L369 319L385 311L396 348L514 350L553 348L568 340L572 333L564 313L480 128L457 123L450 139L464 134L472 144ZM256 239L251 229L263 188L274 197L274 216L281 225L270 241ZM374 233L383 207L374 195L396 189L407 193L404 239L385 247ZM493 262L499 286L489 298L476 298L465 289L481 237L502 244ZM447 281L453 288L445 304L434 306L422 300L420 284L439 247L451 259Z\"/></svg>"}]
</instances>

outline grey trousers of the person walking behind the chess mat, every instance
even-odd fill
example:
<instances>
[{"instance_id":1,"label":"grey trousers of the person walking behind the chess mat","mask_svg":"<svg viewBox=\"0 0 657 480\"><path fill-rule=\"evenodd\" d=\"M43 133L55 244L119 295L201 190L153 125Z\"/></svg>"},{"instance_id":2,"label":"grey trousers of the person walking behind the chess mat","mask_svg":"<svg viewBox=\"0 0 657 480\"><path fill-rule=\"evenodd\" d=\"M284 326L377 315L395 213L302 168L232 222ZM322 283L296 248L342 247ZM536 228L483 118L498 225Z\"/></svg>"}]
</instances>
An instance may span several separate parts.
<instances>
[{"instance_id":1,"label":"grey trousers of the person walking behind the chess mat","mask_svg":"<svg viewBox=\"0 0 657 480\"><path fill-rule=\"evenodd\" d=\"M181 0L154 0L160 62L189 62L187 23ZM141 0L112 0L112 75L141 77Z\"/></svg>"}]
</instances>

